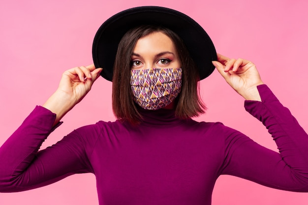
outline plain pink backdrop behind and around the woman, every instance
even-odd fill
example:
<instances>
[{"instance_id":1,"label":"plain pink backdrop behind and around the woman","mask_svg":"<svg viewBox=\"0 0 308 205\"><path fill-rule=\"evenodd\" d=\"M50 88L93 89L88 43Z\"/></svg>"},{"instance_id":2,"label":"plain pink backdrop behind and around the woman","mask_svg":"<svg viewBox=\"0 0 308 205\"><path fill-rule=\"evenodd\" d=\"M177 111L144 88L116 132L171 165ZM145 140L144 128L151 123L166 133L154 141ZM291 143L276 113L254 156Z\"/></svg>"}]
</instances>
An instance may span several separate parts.
<instances>
[{"instance_id":1,"label":"plain pink backdrop behind and around the woman","mask_svg":"<svg viewBox=\"0 0 308 205\"><path fill-rule=\"evenodd\" d=\"M308 131L308 1L305 0L1 0L0 145L35 105L57 88L62 72L92 63L92 40L111 15L134 6L160 5L195 19L216 50L253 61L263 81ZM215 71L201 82L209 110L197 120L222 121L276 150L244 100ZM111 83L100 78L64 118L43 148L82 125L114 120ZM217 180L213 205L307 205L307 193L275 190L233 176ZM0 193L1 205L97 205L95 177L75 175L47 187Z\"/></svg>"}]
</instances>

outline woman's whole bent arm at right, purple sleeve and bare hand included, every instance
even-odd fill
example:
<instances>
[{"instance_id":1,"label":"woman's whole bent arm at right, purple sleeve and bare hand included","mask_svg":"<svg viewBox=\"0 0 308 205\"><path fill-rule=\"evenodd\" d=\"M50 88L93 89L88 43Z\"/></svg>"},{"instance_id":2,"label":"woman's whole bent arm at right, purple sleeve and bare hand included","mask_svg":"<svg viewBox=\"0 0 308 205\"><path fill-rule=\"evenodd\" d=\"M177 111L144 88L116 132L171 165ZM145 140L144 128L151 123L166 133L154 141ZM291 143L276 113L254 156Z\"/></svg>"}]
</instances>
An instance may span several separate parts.
<instances>
[{"instance_id":1,"label":"woman's whole bent arm at right, purple sleeve and bare hand included","mask_svg":"<svg viewBox=\"0 0 308 205\"><path fill-rule=\"evenodd\" d=\"M226 82L242 95L246 110L259 119L278 152L229 129L222 174L234 175L277 189L308 192L308 135L272 91L263 85L255 65L217 54L213 61Z\"/></svg>"}]
</instances>

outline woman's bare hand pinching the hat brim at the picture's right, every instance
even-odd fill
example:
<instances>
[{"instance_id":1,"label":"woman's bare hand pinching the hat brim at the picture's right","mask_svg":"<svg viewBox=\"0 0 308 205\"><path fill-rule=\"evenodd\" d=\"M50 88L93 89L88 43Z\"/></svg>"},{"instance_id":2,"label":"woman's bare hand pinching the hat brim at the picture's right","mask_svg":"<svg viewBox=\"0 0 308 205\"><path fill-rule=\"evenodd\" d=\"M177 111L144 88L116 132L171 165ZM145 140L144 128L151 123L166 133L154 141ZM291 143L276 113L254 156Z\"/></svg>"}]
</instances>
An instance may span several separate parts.
<instances>
[{"instance_id":1,"label":"woman's bare hand pinching the hat brim at the picture's right","mask_svg":"<svg viewBox=\"0 0 308 205\"><path fill-rule=\"evenodd\" d=\"M246 100L261 101L258 85L264 84L256 66L245 59L229 59L217 54L217 61L213 65L226 80Z\"/></svg>"}]
</instances>

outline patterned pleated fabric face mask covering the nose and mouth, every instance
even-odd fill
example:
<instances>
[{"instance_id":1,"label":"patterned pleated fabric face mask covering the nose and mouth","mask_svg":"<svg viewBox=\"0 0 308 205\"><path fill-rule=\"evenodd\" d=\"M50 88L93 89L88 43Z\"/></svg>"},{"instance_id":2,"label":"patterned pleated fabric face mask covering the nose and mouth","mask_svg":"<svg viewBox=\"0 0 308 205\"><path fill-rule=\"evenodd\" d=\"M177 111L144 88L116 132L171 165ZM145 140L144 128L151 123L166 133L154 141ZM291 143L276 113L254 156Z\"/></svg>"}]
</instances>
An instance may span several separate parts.
<instances>
[{"instance_id":1,"label":"patterned pleated fabric face mask covering the nose and mouth","mask_svg":"<svg viewBox=\"0 0 308 205\"><path fill-rule=\"evenodd\" d=\"M169 105L180 93L182 68L150 68L130 71L134 101L147 110Z\"/></svg>"}]
</instances>

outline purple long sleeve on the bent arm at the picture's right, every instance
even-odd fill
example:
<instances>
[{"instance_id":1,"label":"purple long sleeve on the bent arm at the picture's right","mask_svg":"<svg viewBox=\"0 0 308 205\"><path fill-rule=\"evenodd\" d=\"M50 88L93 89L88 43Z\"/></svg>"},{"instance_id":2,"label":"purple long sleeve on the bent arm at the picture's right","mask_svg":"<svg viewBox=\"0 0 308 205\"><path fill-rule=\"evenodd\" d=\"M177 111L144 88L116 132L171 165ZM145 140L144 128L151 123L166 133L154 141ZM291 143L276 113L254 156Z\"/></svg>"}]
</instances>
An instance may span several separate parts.
<instances>
[{"instance_id":1,"label":"purple long sleeve on the bent arm at the picture's right","mask_svg":"<svg viewBox=\"0 0 308 205\"><path fill-rule=\"evenodd\" d=\"M222 174L277 189L307 192L308 135L266 85L258 86L258 90L262 102L246 101L245 108L266 126L279 153L230 129Z\"/></svg>"}]
</instances>

